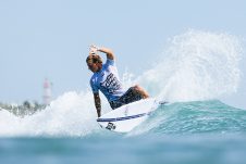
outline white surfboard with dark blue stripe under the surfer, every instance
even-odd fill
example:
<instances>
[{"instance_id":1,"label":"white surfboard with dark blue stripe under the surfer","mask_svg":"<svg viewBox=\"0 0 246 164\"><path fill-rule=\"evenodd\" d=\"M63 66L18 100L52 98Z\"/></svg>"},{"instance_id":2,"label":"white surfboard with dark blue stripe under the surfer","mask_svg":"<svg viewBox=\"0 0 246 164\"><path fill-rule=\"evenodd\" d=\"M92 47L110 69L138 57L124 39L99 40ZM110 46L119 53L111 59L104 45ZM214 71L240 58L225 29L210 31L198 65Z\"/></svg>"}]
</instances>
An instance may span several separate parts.
<instances>
[{"instance_id":1,"label":"white surfboard with dark blue stripe under the surfer","mask_svg":"<svg viewBox=\"0 0 246 164\"><path fill-rule=\"evenodd\" d=\"M158 105L159 102L155 99L139 100L100 116L97 122L102 128L128 133L143 123Z\"/></svg>"}]
</instances>

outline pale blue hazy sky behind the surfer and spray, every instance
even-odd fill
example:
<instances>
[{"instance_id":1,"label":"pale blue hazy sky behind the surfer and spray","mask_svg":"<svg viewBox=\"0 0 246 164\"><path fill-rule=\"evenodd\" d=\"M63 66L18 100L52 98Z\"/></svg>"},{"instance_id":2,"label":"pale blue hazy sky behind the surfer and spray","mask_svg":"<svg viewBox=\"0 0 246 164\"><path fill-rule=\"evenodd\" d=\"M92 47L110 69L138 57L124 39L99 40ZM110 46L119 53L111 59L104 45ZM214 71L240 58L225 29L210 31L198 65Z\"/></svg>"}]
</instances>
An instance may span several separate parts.
<instances>
[{"instance_id":1,"label":"pale blue hazy sky behind the surfer and spray","mask_svg":"<svg viewBox=\"0 0 246 164\"><path fill-rule=\"evenodd\" d=\"M41 102L46 77L53 97L86 90L90 43L112 48L121 73L140 74L169 38L188 28L245 38L246 1L1 0L0 24L0 101ZM243 59L244 73L245 64ZM244 109L245 79L229 98Z\"/></svg>"}]
</instances>

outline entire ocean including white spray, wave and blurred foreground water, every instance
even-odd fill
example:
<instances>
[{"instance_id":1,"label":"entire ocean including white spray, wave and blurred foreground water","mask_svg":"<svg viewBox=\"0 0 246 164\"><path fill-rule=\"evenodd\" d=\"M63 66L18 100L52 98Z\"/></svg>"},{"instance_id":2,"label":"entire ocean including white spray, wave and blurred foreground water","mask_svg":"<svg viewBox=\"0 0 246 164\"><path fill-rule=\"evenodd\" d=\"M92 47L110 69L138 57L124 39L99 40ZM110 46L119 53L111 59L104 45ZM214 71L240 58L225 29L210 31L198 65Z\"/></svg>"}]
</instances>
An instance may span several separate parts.
<instances>
[{"instance_id":1,"label":"entire ocean including white spray, wave and blurred foreground water","mask_svg":"<svg viewBox=\"0 0 246 164\"><path fill-rule=\"evenodd\" d=\"M24 117L1 109L0 164L245 164L246 110L220 99L238 89L241 55L235 36L174 36L161 62L123 75L125 86L170 102L128 134L98 126L90 90L65 92Z\"/></svg>"}]
</instances>

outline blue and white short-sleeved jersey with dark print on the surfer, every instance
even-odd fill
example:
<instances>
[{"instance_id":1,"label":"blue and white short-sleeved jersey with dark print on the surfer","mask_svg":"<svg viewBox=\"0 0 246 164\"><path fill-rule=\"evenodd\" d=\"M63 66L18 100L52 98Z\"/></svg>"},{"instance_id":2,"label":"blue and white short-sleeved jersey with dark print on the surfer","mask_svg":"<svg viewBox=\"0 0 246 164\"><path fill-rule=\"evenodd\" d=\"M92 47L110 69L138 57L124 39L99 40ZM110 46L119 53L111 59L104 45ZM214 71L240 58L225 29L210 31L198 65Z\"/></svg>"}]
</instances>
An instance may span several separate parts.
<instances>
[{"instance_id":1,"label":"blue and white short-sleeved jersey with dark print on the surfer","mask_svg":"<svg viewBox=\"0 0 246 164\"><path fill-rule=\"evenodd\" d=\"M94 93L99 90L106 96L108 101L114 101L125 93L122 84L120 83L118 70L113 60L107 59L102 68L94 73L90 78L90 87Z\"/></svg>"}]
</instances>

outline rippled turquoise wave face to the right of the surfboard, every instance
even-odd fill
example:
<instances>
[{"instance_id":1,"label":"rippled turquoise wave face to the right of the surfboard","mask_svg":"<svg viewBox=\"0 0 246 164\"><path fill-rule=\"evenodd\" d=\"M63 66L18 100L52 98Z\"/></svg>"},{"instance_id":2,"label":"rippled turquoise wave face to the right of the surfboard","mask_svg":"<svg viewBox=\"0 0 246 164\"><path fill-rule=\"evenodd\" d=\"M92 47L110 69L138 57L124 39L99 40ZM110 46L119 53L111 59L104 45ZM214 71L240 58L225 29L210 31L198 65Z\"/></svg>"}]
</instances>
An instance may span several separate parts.
<instances>
[{"instance_id":1,"label":"rippled turquoise wave face to the right of the surfboard","mask_svg":"<svg viewBox=\"0 0 246 164\"><path fill-rule=\"evenodd\" d=\"M246 110L218 100L162 105L131 135L246 134Z\"/></svg>"}]
</instances>

